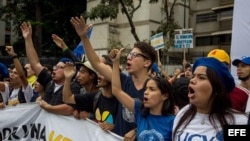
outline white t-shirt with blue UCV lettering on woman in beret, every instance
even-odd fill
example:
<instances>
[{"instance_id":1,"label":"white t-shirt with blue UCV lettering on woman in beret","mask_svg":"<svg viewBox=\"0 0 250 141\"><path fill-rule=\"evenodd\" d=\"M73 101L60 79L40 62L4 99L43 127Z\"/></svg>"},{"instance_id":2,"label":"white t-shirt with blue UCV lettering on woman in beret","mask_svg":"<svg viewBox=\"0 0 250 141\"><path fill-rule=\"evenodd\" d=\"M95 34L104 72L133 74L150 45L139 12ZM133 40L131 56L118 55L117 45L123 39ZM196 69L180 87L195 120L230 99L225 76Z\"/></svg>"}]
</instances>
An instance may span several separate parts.
<instances>
[{"instance_id":1,"label":"white t-shirt with blue UCV lettering on woman in beret","mask_svg":"<svg viewBox=\"0 0 250 141\"><path fill-rule=\"evenodd\" d=\"M187 111L190 105L183 107L176 115L174 120L173 132L176 128L177 123L180 121L180 118ZM241 114L233 114L235 118L235 125L246 125L247 116ZM219 122L216 121L219 126ZM222 141L223 140L223 131L222 128L219 131L216 131L212 124L209 122L208 114L197 113L190 123L183 129L182 133L180 127L176 133L173 135L176 141Z\"/></svg>"}]
</instances>

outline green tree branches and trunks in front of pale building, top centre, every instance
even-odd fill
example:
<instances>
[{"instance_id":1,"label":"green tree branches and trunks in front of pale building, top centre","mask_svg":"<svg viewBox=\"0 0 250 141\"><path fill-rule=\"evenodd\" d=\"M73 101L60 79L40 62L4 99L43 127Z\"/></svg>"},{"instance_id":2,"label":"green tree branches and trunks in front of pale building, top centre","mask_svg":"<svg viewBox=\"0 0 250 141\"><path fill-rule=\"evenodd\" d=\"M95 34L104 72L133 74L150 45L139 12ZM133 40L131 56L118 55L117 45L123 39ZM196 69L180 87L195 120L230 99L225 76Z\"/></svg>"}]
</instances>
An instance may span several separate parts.
<instances>
[{"instance_id":1,"label":"green tree branches and trunks in front of pale building, top centre","mask_svg":"<svg viewBox=\"0 0 250 141\"><path fill-rule=\"evenodd\" d=\"M150 0L149 3L157 3L159 0ZM174 45L174 30L181 28L177 23L174 22L174 5L177 0L173 1L173 4L169 4L169 0L164 0L164 8L162 12L165 13L165 19L161 21L161 25L158 27L156 31L152 31L152 35L156 33L163 32L164 36L166 37L166 50L169 47ZM148 1L147 1L148 2ZM93 7L90 11L84 12L84 17L89 18L90 20L95 20L100 18L101 20L104 19L115 19L118 15L118 4L121 5L121 11L123 14L126 15L128 19L128 23L131 27L131 34L134 36L136 41L140 41L138 37L135 25L133 23L133 16L134 13L141 7L142 0L136 1L133 0L102 0L100 4L96 7Z\"/></svg>"}]
</instances>

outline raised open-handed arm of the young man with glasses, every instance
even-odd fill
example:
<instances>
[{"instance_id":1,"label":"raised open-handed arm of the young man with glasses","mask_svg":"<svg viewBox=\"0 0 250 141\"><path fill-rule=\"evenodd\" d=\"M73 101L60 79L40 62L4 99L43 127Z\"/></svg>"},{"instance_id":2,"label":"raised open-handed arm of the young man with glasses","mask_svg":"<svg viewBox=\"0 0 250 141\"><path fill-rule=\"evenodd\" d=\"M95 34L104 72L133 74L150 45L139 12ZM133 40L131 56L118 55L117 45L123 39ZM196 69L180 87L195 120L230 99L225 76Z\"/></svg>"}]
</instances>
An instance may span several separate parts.
<instances>
[{"instance_id":1,"label":"raised open-handed arm of the young man with glasses","mask_svg":"<svg viewBox=\"0 0 250 141\"><path fill-rule=\"evenodd\" d=\"M93 49L87 33L91 25L87 25L83 17L72 17L70 19L71 24L74 26L78 36L81 38L82 44L84 46L84 51L94 69L99 72L105 79L111 81L112 69L101 62L99 56Z\"/></svg>"}]
</instances>

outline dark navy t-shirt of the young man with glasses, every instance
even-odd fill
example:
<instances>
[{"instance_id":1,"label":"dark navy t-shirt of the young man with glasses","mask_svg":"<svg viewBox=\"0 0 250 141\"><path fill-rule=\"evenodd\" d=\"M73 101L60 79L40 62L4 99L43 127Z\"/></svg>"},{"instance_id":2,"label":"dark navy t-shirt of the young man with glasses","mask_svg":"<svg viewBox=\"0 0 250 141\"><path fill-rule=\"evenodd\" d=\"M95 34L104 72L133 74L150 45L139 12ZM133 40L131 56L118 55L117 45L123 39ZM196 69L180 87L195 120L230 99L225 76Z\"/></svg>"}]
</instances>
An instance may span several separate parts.
<instances>
[{"instance_id":1,"label":"dark navy t-shirt of the young man with glasses","mask_svg":"<svg viewBox=\"0 0 250 141\"><path fill-rule=\"evenodd\" d=\"M137 90L130 75L120 73L120 79L124 92L129 94L132 98L143 99L144 89ZM136 128L134 114L119 103L113 132L120 136L124 136L128 131L134 128Z\"/></svg>"}]
</instances>

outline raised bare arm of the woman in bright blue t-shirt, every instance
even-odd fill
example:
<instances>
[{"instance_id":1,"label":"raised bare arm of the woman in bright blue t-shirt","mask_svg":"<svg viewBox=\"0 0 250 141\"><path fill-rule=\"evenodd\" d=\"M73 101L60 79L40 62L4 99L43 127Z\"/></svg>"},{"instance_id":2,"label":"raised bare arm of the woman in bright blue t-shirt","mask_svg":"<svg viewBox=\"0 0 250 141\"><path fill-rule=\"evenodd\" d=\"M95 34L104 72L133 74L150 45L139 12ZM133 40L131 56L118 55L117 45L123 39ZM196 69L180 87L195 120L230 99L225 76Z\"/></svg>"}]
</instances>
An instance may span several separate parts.
<instances>
[{"instance_id":1,"label":"raised bare arm of the woman in bright blue t-shirt","mask_svg":"<svg viewBox=\"0 0 250 141\"><path fill-rule=\"evenodd\" d=\"M120 101L122 105L124 105L129 111L134 112L134 99L130 97L127 93L125 93L121 88L121 80L120 80L120 56L121 49L112 50L110 52L110 58L113 61L113 73L112 73L112 94Z\"/></svg>"}]
</instances>

